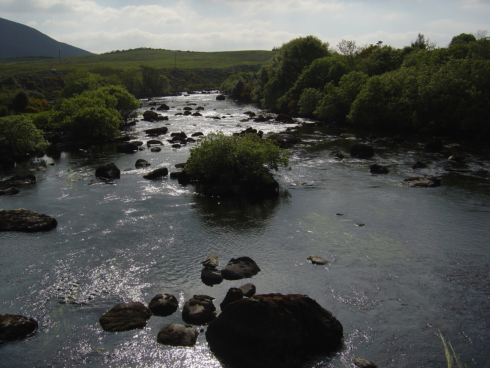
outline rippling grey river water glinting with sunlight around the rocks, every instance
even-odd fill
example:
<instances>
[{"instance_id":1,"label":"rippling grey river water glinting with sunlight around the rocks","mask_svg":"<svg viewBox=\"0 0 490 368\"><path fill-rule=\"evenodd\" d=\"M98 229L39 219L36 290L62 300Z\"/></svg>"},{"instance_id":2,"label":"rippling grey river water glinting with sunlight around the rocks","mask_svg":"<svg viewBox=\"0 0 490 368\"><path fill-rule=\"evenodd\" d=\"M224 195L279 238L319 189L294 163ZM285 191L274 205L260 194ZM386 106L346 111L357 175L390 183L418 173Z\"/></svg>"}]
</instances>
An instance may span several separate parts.
<instances>
[{"instance_id":1,"label":"rippling grey river water glinting with sunlight around the rocks","mask_svg":"<svg viewBox=\"0 0 490 368\"><path fill-rule=\"evenodd\" d=\"M216 94L155 101L174 106L168 111L171 132L294 127L239 122L243 112L259 109L216 101ZM204 116L173 115L189 103L202 105ZM148 108L143 104L141 112ZM225 118L206 118L215 115ZM143 129L165 123L141 121L130 134L146 141ZM458 142L467 159L455 163L447 160L450 149L428 153L417 140L422 138L407 137L404 143L373 144L375 157L362 160L348 152L354 142L368 142L369 132L307 124L291 133L303 142L290 149L292 170L278 172L281 189L273 199L203 198L192 185L143 179L162 166L178 171L173 165L188 157L193 144L172 149L165 141L169 134L157 138L165 142L161 152L127 155L117 153L116 145L84 147L1 172L1 180L37 177L19 194L0 197L1 209L46 213L58 227L0 234L0 314L39 321L34 336L0 345L0 367L221 367L204 333L190 348L164 346L156 335L167 323L183 323L181 308L194 294L211 295L218 306L230 287L248 282L257 293L307 294L341 321L342 350L305 367L353 367L356 356L379 367L447 367L438 330L462 363L490 367L489 147ZM355 139L341 136L348 133ZM346 158L330 158L336 150ZM134 169L138 158L151 166ZM411 169L416 160L428 168ZM112 183L89 185L107 162L134 170ZM370 174L372 163L390 173ZM35 171L39 165L47 169ZM401 185L426 173L442 185ZM208 287L200 280L199 262L210 253L218 255L220 268L248 256L262 271ZM312 254L331 264L307 262ZM142 330L108 333L100 327L99 316L117 303L147 304L157 293L174 294L180 310L151 317Z\"/></svg>"}]
</instances>

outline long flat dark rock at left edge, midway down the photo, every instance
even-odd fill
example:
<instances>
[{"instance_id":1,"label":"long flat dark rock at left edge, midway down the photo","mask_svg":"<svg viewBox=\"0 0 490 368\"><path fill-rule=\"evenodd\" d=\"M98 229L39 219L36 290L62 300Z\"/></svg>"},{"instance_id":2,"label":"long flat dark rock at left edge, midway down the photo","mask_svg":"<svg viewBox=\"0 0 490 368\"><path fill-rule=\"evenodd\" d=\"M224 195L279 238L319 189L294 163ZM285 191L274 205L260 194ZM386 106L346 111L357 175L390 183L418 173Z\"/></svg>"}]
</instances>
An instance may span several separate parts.
<instances>
[{"instance_id":1,"label":"long flat dark rock at left edge, midway down the photo","mask_svg":"<svg viewBox=\"0 0 490 368\"><path fill-rule=\"evenodd\" d=\"M0 211L0 231L49 231L58 225L56 219L34 211L17 209Z\"/></svg>"}]
</instances>

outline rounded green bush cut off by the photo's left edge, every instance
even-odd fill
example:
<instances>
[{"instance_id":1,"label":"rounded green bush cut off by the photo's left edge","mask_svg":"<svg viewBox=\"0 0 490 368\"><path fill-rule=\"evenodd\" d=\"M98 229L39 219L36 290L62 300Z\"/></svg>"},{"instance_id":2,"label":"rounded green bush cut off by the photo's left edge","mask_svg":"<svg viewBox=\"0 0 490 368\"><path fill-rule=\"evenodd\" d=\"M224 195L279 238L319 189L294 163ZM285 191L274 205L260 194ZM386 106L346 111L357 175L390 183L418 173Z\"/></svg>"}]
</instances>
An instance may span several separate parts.
<instances>
[{"instance_id":1,"label":"rounded green bush cut off by the photo's left edge","mask_svg":"<svg viewBox=\"0 0 490 368\"><path fill-rule=\"evenodd\" d=\"M49 142L32 120L23 115L0 118L0 153L20 156L45 152Z\"/></svg>"}]
</instances>

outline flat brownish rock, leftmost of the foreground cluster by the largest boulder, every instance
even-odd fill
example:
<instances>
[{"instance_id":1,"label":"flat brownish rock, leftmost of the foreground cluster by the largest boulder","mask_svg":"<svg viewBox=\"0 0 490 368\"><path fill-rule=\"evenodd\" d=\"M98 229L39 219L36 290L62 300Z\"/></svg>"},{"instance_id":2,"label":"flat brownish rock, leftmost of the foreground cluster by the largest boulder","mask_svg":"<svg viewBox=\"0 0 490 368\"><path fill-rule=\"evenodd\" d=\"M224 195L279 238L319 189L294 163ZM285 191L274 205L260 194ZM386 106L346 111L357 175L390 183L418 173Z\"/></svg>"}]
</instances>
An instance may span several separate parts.
<instances>
[{"instance_id":1,"label":"flat brownish rock, leftmost of the foreground cluster by the largest boulder","mask_svg":"<svg viewBox=\"0 0 490 368\"><path fill-rule=\"evenodd\" d=\"M143 328L151 317L151 311L140 302L121 303L100 316L98 321L109 332L131 331Z\"/></svg>"}]
</instances>

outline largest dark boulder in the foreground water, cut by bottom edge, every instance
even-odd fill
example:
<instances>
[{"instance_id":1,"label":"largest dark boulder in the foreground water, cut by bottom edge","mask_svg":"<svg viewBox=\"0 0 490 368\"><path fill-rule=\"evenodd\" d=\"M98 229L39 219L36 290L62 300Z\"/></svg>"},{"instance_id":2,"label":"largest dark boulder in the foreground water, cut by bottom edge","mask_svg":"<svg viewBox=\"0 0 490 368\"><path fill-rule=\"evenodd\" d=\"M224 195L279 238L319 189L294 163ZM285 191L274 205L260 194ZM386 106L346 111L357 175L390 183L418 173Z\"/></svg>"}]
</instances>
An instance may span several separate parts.
<instances>
[{"instance_id":1,"label":"largest dark boulder in the foreground water, cut by bottom edge","mask_svg":"<svg viewBox=\"0 0 490 368\"><path fill-rule=\"evenodd\" d=\"M329 311L297 294L238 300L206 331L211 351L234 368L300 368L308 356L337 350L342 338L342 324Z\"/></svg>"}]
</instances>

